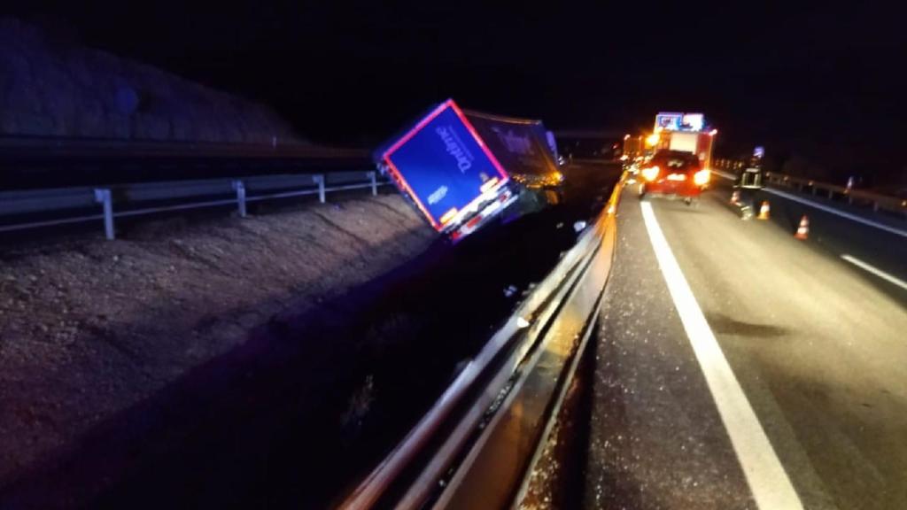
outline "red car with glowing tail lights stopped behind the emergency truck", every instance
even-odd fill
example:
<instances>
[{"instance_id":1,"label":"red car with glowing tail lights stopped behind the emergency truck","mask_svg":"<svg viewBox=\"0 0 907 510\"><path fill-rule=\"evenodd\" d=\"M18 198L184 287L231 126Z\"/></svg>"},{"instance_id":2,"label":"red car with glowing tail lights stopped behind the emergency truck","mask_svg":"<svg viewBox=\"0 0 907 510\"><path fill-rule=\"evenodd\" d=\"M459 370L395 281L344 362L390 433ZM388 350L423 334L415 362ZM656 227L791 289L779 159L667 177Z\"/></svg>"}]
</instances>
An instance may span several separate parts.
<instances>
[{"instance_id":1,"label":"red car with glowing tail lights stopped behind the emergency truck","mask_svg":"<svg viewBox=\"0 0 907 510\"><path fill-rule=\"evenodd\" d=\"M647 195L679 198L688 204L697 200L708 185L711 172L691 152L661 150L639 172L639 197Z\"/></svg>"}]
</instances>

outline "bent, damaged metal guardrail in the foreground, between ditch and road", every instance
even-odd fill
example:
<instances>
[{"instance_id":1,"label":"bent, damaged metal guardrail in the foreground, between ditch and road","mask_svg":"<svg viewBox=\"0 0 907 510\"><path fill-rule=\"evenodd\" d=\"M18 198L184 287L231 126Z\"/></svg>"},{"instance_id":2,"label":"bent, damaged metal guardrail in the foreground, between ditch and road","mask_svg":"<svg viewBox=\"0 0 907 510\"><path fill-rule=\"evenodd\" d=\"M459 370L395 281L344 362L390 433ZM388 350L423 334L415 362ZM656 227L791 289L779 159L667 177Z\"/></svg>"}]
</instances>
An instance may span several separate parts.
<instances>
[{"instance_id":1,"label":"bent, damaged metal guardrail in the foreground, between ditch and road","mask_svg":"<svg viewBox=\"0 0 907 510\"><path fill-rule=\"evenodd\" d=\"M345 509L493 508L522 494L595 322L619 191Z\"/></svg>"}]
</instances>

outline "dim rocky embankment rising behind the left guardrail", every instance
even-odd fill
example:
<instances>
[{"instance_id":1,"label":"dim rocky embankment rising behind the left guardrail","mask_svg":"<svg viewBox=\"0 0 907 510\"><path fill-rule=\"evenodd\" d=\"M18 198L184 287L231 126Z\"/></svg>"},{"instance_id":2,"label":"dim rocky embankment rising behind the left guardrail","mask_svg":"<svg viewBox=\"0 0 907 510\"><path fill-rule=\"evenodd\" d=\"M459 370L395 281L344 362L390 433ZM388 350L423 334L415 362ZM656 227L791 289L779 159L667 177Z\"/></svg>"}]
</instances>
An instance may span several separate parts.
<instances>
[{"instance_id":1,"label":"dim rocky embankment rising behind the left guardrail","mask_svg":"<svg viewBox=\"0 0 907 510\"><path fill-rule=\"evenodd\" d=\"M265 106L0 18L0 135L294 141Z\"/></svg>"}]
</instances>

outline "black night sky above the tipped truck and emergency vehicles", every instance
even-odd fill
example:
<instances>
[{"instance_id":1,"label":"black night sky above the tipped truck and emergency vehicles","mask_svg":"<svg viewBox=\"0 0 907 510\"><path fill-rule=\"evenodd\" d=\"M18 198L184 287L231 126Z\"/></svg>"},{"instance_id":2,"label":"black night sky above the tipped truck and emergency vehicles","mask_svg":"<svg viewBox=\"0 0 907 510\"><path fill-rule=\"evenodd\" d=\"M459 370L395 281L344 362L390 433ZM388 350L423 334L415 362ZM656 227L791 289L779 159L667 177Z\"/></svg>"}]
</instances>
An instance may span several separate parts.
<instances>
[{"instance_id":1,"label":"black night sky above the tipped truck and emergency vehicles","mask_svg":"<svg viewBox=\"0 0 907 510\"><path fill-rule=\"evenodd\" d=\"M317 142L373 144L453 97L555 129L637 132L658 111L701 111L719 152L763 144L837 172L907 174L907 30L870 3L69 4L14 14L269 103Z\"/></svg>"}]
</instances>

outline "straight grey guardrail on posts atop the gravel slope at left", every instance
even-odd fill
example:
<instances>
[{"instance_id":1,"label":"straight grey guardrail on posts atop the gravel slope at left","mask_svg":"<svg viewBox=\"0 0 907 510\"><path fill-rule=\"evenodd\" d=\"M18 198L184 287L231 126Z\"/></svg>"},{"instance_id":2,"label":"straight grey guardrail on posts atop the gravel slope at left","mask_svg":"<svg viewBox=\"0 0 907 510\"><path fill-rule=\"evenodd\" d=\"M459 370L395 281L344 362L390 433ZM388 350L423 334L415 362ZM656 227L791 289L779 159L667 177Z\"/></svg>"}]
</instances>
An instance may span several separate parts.
<instances>
[{"instance_id":1,"label":"straight grey guardrail on posts atop the gravel slope at left","mask_svg":"<svg viewBox=\"0 0 907 510\"><path fill-rule=\"evenodd\" d=\"M0 232L101 220L106 238L113 240L116 218L229 205L245 217L250 201L317 194L324 203L331 191L370 188L375 195L388 183L376 172L329 172L0 191Z\"/></svg>"}]
</instances>

